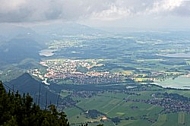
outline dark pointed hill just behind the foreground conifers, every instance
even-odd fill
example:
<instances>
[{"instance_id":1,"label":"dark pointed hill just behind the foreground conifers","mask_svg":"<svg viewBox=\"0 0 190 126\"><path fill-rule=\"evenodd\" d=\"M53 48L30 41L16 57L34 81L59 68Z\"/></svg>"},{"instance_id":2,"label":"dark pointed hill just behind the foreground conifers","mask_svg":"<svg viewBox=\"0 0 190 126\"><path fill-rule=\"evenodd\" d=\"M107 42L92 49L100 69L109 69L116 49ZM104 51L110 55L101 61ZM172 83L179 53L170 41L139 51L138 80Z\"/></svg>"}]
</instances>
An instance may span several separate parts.
<instances>
[{"instance_id":1,"label":"dark pointed hill just behind the foreground conifers","mask_svg":"<svg viewBox=\"0 0 190 126\"><path fill-rule=\"evenodd\" d=\"M9 86L11 90L18 90L20 93L29 93L34 98L34 102L39 103L42 107L50 103L57 103L58 94L52 90L50 91L46 85L35 80L28 73L24 73L20 77L6 83L6 85ZM61 98L59 101L61 102Z\"/></svg>"}]
</instances>

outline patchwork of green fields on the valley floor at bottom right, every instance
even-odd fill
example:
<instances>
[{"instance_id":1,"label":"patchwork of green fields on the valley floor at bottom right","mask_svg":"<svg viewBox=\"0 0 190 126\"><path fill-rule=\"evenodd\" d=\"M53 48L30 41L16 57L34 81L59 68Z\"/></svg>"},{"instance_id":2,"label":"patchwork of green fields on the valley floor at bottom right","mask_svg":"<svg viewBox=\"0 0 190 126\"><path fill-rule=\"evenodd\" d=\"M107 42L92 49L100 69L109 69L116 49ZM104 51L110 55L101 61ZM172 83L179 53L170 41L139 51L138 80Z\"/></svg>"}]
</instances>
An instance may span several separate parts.
<instances>
[{"instance_id":1,"label":"patchwork of green fields on the valley floor at bottom right","mask_svg":"<svg viewBox=\"0 0 190 126\"><path fill-rule=\"evenodd\" d=\"M172 92L172 90L168 90ZM163 91L164 92L164 91ZM178 91L184 94L185 91ZM148 99L153 91L140 91L140 96L128 95L125 93L104 92L91 98L74 97L78 100L76 105L81 108L66 108L64 111L68 115L69 122L72 125L88 123L90 126L104 124L105 126L182 126L190 124L190 114L186 112L161 113L162 107L146 103L125 101L125 98ZM190 96L190 94L188 95ZM85 112L88 110L98 110L105 114L106 120L101 120L101 116L95 119L89 118ZM120 122L114 123L111 119L120 118Z\"/></svg>"}]
</instances>

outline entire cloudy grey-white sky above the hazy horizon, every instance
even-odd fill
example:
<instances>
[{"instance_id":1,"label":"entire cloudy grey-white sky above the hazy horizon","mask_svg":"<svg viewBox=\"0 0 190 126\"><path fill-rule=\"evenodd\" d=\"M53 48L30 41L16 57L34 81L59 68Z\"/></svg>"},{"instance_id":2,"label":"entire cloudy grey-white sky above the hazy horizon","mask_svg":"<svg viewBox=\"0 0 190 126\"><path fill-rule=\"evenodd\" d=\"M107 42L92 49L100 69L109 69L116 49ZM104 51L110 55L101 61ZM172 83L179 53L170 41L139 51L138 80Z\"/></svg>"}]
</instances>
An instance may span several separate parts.
<instances>
[{"instance_id":1,"label":"entire cloudy grey-white sky above the hazy horizon","mask_svg":"<svg viewBox=\"0 0 190 126\"><path fill-rule=\"evenodd\" d=\"M0 0L0 23L190 29L190 0Z\"/></svg>"}]
</instances>

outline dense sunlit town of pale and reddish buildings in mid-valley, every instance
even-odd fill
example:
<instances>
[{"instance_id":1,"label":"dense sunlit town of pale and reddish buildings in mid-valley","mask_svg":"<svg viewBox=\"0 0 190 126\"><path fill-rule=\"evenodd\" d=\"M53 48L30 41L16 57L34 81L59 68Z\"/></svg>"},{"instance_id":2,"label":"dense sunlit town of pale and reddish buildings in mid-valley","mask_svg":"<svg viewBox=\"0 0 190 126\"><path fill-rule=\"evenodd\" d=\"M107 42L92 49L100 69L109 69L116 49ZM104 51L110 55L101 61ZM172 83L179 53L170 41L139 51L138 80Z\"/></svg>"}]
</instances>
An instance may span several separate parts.
<instances>
[{"instance_id":1,"label":"dense sunlit town of pale and reddish buildings in mid-valley","mask_svg":"<svg viewBox=\"0 0 190 126\"><path fill-rule=\"evenodd\" d=\"M123 81L121 73L91 70L93 67L102 66L97 62L101 60L70 60L54 59L40 62L47 67L47 73L42 75L38 69L30 70L33 76L41 80L66 84L105 84Z\"/></svg>"}]
</instances>

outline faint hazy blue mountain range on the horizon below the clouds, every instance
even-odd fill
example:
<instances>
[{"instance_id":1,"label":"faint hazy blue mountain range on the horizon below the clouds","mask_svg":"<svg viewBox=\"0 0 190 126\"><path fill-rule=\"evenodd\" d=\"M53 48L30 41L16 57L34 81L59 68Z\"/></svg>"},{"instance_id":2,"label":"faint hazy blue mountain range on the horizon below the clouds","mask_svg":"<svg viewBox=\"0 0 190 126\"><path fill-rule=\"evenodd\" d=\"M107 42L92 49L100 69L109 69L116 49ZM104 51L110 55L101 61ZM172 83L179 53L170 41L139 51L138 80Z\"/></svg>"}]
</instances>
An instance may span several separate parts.
<instances>
[{"instance_id":1,"label":"faint hazy blue mountain range on the horizon below the clouds","mask_svg":"<svg viewBox=\"0 0 190 126\"><path fill-rule=\"evenodd\" d=\"M103 33L105 31L77 23L52 23L34 26L0 24L0 39L2 40L27 37L44 41L64 35L95 35Z\"/></svg>"}]
</instances>

